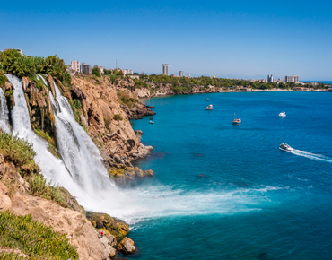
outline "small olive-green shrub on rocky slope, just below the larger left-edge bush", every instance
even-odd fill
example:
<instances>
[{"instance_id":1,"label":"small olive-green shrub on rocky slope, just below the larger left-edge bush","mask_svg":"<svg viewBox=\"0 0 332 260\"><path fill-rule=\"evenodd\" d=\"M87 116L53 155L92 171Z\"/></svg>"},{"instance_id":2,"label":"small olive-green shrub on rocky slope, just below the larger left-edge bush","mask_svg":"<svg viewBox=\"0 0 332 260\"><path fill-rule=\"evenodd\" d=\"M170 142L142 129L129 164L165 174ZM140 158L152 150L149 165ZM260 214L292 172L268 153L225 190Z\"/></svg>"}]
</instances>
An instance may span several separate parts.
<instances>
[{"instance_id":1,"label":"small olive-green shrub on rocky slope, just below the larger left-edge bush","mask_svg":"<svg viewBox=\"0 0 332 260\"><path fill-rule=\"evenodd\" d=\"M46 183L46 179L41 175L32 175L28 178L30 194L55 201L61 204L64 201L62 193L51 182Z\"/></svg>"}]
</instances>

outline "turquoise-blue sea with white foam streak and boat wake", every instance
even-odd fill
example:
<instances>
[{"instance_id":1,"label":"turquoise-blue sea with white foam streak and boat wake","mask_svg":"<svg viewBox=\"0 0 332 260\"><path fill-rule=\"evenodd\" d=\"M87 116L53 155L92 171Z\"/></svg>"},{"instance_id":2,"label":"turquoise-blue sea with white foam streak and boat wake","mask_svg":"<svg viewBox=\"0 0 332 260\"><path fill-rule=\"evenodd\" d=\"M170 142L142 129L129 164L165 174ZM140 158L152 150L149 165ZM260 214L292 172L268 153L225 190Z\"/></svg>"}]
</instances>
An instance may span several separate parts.
<instances>
[{"instance_id":1,"label":"turquoise-blue sea with white foam streak and boat wake","mask_svg":"<svg viewBox=\"0 0 332 260\"><path fill-rule=\"evenodd\" d=\"M139 250L128 258L332 258L332 93L144 102L155 106L154 124L144 117L133 127L154 152L137 165L155 178L137 184L149 212L132 225ZM280 151L282 142L293 152Z\"/></svg>"}]
</instances>

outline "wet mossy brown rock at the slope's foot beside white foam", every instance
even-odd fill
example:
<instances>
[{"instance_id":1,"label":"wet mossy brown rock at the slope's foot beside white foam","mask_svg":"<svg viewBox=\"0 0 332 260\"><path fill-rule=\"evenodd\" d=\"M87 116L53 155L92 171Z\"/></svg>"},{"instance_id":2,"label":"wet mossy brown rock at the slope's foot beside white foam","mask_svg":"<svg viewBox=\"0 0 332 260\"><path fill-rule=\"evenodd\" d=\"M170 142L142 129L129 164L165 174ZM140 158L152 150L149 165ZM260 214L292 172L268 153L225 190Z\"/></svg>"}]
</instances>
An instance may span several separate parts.
<instances>
[{"instance_id":1,"label":"wet mossy brown rock at the slope's foot beside white foam","mask_svg":"<svg viewBox=\"0 0 332 260\"><path fill-rule=\"evenodd\" d=\"M129 225L126 221L112 218L106 213L86 212L86 217L92 221L95 228L108 230L115 238L123 238L129 232Z\"/></svg>"}]
</instances>

